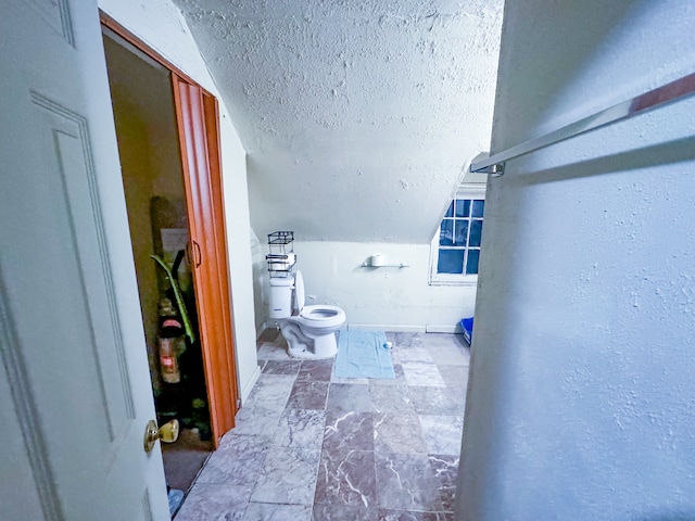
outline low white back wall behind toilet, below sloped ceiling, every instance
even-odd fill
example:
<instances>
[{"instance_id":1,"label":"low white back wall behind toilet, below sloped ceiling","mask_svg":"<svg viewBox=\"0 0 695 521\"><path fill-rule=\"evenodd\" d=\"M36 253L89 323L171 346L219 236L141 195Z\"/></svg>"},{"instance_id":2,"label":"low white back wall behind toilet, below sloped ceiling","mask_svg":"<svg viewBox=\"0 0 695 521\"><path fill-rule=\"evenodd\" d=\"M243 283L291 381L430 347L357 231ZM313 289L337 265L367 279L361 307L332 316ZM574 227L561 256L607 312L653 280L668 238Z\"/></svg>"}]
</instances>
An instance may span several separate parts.
<instances>
[{"instance_id":1,"label":"low white back wall behind toilet, below sloped ceiling","mask_svg":"<svg viewBox=\"0 0 695 521\"><path fill-rule=\"evenodd\" d=\"M306 304L342 307L349 328L453 332L472 315L475 285L428 285L429 244L296 241L294 252ZM361 267L375 254L409 267Z\"/></svg>"}]
</instances>

